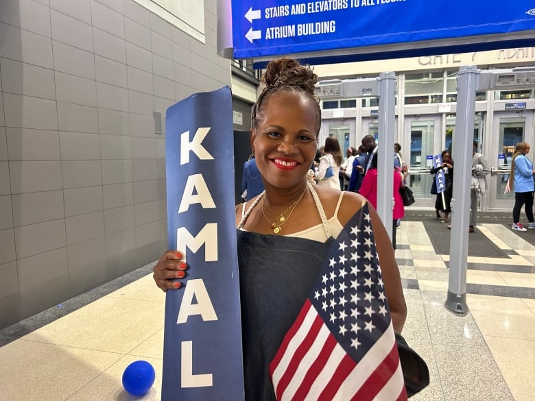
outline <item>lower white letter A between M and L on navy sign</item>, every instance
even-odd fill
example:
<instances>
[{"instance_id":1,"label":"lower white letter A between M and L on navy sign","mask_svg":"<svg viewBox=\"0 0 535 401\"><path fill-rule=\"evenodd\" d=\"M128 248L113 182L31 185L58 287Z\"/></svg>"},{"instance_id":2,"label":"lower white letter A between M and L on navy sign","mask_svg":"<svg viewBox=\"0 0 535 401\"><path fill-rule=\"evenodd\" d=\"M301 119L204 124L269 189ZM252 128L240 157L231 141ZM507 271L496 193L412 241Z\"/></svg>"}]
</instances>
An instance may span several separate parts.
<instances>
[{"instance_id":1,"label":"lower white letter A between M and L on navy sign","mask_svg":"<svg viewBox=\"0 0 535 401\"><path fill-rule=\"evenodd\" d=\"M197 304L191 304L193 295L195 295ZM188 280L182 302L180 302L176 324L186 323L188 317L193 315L201 315L203 321L217 320L210 295L208 295L201 278Z\"/></svg>"}]
</instances>

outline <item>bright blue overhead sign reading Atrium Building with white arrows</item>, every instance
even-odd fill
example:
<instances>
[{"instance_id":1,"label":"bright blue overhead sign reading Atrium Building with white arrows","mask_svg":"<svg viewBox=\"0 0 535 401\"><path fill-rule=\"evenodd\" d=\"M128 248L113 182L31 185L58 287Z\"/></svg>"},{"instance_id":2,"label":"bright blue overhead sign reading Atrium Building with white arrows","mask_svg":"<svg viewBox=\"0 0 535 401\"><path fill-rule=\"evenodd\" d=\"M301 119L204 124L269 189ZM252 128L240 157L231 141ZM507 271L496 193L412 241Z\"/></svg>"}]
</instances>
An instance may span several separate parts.
<instances>
[{"instance_id":1,"label":"bright blue overhead sign reading Atrium Building with white arrows","mask_svg":"<svg viewBox=\"0 0 535 401\"><path fill-rule=\"evenodd\" d=\"M535 3L233 0L232 20L234 58L259 58L495 34L506 40L535 29Z\"/></svg>"}]
</instances>

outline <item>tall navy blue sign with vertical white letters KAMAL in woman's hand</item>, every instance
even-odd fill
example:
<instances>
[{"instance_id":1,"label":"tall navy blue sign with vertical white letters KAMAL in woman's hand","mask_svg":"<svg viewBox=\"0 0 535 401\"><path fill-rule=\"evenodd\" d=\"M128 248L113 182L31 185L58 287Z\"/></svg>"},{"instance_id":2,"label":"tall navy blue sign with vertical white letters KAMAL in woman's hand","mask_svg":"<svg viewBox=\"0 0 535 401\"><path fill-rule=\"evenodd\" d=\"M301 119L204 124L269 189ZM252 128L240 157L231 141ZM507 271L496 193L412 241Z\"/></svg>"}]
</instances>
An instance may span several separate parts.
<instances>
[{"instance_id":1,"label":"tall navy blue sign with vertical white letters KAMAL in woman's hand","mask_svg":"<svg viewBox=\"0 0 535 401\"><path fill-rule=\"evenodd\" d=\"M163 401L243 400L230 89L167 109L169 249L187 276L165 298Z\"/></svg>"}]
</instances>

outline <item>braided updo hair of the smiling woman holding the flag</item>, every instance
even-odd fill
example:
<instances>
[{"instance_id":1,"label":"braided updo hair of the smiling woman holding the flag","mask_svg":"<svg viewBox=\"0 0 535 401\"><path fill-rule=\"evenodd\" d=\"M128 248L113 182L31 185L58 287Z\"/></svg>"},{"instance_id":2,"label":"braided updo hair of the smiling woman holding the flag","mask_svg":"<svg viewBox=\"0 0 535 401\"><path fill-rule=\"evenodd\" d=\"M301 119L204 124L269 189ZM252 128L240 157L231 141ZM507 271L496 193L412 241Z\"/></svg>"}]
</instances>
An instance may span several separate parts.
<instances>
[{"instance_id":1,"label":"braided updo hair of the smiling woman holding the flag","mask_svg":"<svg viewBox=\"0 0 535 401\"><path fill-rule=\"evenodd\" d=\"M315 123L316 136L318 136L322 122L320 100L314 95L318 75L312 71L310 66L302 65L292 58L278 58L270 61L261 81L265 84L265 88L258 97L257 103L252 106L251 127L256 128L262 121L265 102L270 97L281 92L297 93L309 99L316 108Z\"/></svg>"}]
</instances>

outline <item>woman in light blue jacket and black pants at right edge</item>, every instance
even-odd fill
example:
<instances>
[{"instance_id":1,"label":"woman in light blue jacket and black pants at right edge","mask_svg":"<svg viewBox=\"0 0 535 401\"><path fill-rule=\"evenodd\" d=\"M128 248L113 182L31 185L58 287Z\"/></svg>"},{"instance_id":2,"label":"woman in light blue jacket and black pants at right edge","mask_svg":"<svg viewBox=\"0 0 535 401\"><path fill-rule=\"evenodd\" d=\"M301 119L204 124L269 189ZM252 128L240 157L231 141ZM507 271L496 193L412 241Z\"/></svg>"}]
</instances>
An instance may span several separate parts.
<instances>
[{"instance_id":1,"label":"woman in light blue jacket and black pants at right edge","mask_svg":"<svg viewBox=\"0 0 535 401\"><path fill-rule=\"evenodd\" d=\"M527 228L534 229L533 219L533 163L525 157L530 153L530 145L526 142L519 142L514 147L514 154L511 160L511 173L509 175L509 188L514 191L513 223L512 230L526 231L527 229L520 223L520 210L524 206L525 216L530 221ZM511 180L511 178L513 178Z\"/></svg>"}]
</instances>

